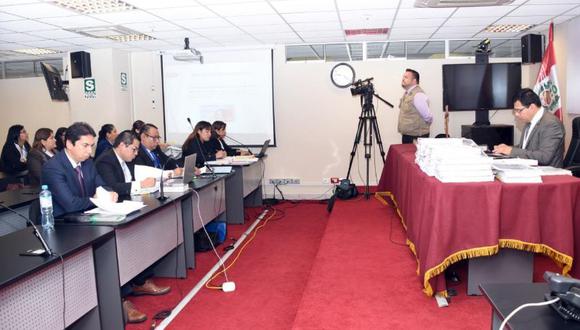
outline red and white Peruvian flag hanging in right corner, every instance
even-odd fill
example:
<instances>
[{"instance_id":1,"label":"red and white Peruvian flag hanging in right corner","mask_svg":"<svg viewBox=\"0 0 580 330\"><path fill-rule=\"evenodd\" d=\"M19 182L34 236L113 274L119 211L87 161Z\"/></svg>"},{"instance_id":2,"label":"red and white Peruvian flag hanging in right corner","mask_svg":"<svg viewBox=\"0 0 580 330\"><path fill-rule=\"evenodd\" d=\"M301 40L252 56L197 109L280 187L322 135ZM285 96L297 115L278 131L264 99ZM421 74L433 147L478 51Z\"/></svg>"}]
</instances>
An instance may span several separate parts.
<instances>
[{"instance_id":1,"label":"red and white Peruvian flag hanging in right corner","mask_svg":"<svg viewBox=\"0 0 580 330\"><path fill-rule=\"evenodd\" d=\"M540 96L542 106L562 120L562 102L558 74L556 72L556 55L554 53L554 23L550 24L548 48L542 59L534 92Z\"/></svg>"}]
</instances>

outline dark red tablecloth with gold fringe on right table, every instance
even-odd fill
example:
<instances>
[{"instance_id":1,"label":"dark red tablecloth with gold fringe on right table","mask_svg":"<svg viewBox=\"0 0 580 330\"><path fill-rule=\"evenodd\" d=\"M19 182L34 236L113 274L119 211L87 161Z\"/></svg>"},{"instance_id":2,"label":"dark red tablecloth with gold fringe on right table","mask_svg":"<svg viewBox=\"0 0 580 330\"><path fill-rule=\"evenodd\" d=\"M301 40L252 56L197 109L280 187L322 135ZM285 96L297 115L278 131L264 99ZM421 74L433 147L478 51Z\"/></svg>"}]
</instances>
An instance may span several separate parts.
<instances>
[{"instance_id":1,"label":"dark red tablecloth with gold fringe on right table","mask_svg":"<svg viewBox=\"0 0 580 330\"><path fill-rule=\"evenodd\" d=\"M392 145L377 197L397 207L427 295L446 294L454 262L514 248L572 268L580 256L580 179L545 176L541 184L442 183L415 164L416 147ZM579 237L575 242L574 237Z\"/></svg>"}]
</instances>

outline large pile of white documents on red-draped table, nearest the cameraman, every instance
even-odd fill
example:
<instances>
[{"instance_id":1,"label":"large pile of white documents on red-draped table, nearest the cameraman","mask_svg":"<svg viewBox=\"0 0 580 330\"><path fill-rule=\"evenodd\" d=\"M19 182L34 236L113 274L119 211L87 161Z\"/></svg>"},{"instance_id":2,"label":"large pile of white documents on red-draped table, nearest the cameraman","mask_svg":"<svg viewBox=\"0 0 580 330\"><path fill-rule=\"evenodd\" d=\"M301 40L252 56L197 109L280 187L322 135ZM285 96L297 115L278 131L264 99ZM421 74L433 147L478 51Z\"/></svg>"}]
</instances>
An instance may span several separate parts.
<instances>
[{"instance_id":1,"label":"large pile of white documents on red-draped table, nearest the cameraman","mask_svg":"<svg viewBox=\"0 0 580 330\"><path fill-rule=\"evenodd\" d=\"M419 139L415 162L441 182L490 182L491 158L468 139Z\"/></svg>"}]
</instances>

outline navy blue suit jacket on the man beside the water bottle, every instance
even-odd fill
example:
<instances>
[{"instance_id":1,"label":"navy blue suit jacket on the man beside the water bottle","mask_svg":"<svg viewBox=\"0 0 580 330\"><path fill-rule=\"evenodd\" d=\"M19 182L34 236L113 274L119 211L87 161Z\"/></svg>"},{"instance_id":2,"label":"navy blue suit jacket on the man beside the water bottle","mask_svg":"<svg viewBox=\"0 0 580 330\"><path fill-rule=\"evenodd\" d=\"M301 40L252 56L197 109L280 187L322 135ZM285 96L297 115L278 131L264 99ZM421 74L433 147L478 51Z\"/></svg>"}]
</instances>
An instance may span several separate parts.
<instances>
[{"instance_id":1,"label":"navy blue suit jacket on the man beside the water bottle","mask_svg":"<svg viewBox=\"0 0 580 330\"><path fill-rule=\"evenodd\" d=\"M65 151L58 152L42 168L42 184L52 193L52 208L55 217L65 213L86 210L93 206L89 200L97 187L105 186L105 181L97 173L92 159L81 163L86 196L82 196L75 170Z\"/></svg>"}]
</instances>

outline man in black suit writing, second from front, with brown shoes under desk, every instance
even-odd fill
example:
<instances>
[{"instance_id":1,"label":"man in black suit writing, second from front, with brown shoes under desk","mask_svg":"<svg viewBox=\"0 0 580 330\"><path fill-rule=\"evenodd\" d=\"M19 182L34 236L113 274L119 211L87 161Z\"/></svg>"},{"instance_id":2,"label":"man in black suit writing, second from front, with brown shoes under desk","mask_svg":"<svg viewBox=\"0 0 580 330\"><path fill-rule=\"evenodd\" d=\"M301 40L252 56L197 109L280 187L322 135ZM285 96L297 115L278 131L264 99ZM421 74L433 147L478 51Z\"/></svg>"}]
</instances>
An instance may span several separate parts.
<instances>
[{"instance_id":1,"label":"man in black suit writing, second from front, with brown shoes under desk","mask_svg":"<svg viewBox=\"0 0 580 330\"><path fill-rule=\"evenodd\" d=\"M113 149L104 151L96 161L96 167L103 180L119 195L130 195L140 188L155 186L154 178L147 178L136 182L134 178L133 161L139 151L139 140L131 131L123 131L113 143ZM170 287L157 286L153 280L153 267L147 268L137 275L131 282L121 288L121 295L126 298L134 295L162 295L170 291ZM147 319L147 315L137 310L128 300L123 300L123 309L128 323L140 323Z\"/></svg>"}]
</instances>

